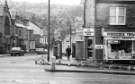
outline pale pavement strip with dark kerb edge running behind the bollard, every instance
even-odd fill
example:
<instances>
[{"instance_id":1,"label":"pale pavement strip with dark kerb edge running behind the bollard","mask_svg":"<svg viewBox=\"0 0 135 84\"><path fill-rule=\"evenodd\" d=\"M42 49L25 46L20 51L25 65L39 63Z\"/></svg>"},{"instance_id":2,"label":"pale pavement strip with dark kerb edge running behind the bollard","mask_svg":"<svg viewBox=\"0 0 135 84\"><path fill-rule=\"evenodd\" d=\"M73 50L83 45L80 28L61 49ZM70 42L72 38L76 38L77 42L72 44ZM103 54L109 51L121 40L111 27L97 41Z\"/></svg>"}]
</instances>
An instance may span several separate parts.
<instances>
[{"instance_id":1,"label":"pale pavement strip with dark kerb edge running behind the bollard","mask_svg":"<svg viewBox=\"0 0 135 84\"><path fill-rule=\"evenodd\" d=\"M45 68L45 71L49 72L75 72L75 73L104 73L104 74L119 74L119 75L135 75L135 71L126 70L113 70L113 69L101 69L91 67L76 67L76 66L64 66L55 65L55 69L50 67Z\"/></svg>"}]
</instances>

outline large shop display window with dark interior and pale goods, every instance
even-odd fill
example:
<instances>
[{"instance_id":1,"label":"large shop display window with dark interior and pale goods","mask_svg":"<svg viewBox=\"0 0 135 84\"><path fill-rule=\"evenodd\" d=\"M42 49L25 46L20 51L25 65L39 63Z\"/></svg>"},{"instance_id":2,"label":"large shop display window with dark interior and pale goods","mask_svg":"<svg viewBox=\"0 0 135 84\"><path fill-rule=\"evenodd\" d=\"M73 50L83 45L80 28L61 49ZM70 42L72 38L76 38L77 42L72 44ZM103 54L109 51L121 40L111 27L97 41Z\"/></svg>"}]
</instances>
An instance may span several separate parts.
<instances>
[{"instance_id":1,"label":"large shop display window with dark interior and pale goods","mask_svg":"<svg viewBox=\"0 0 135 84\"><path fill-rule=\"evenodd\" d=\"M108 43L108 56L111 59L132 59L135 56L135 41L117 40Z\"/></svg>"}]
</instances>

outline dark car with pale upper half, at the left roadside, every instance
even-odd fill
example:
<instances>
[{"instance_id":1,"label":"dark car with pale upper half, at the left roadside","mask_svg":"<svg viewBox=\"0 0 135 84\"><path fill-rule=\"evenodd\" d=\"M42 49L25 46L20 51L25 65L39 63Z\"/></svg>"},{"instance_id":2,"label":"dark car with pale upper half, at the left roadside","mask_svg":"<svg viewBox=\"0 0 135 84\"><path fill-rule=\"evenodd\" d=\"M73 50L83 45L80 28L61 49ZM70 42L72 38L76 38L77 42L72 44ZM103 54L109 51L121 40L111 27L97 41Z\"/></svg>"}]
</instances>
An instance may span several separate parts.
<instances>
[{"instance_id":1,"label":"dark car with pale upper half, at the left roadside","mask_svg":"<svg viewBox=\"0 0 135 84\"><path fill-rule=\"evenodd\" d=\"M10 50L10 55L11 56L22 56L24 55L25 51L21 49L21 47L12 47Z\"/></svg>"}]
</instances>

